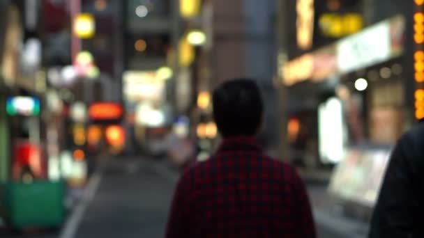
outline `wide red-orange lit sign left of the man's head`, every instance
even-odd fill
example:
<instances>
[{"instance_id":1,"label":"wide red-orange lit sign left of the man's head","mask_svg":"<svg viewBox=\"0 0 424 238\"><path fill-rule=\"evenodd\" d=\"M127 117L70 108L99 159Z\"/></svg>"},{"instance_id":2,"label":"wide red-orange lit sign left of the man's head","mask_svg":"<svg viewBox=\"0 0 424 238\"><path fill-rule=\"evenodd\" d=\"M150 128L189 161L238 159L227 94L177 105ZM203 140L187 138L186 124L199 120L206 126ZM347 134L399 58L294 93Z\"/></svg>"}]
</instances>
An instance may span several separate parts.
<instances>
[{"instance_id":1,"label":"wide red-orange lit sign left of the man's head","mask_svg":"<svg viewBox=\"0 0 424 238\"><path fill-rule=\"evenodd\" d=\"M91 120L120 120L123 108L119 103L99 102L90 106L89 115Z\"/></svg>"}]
</instances>

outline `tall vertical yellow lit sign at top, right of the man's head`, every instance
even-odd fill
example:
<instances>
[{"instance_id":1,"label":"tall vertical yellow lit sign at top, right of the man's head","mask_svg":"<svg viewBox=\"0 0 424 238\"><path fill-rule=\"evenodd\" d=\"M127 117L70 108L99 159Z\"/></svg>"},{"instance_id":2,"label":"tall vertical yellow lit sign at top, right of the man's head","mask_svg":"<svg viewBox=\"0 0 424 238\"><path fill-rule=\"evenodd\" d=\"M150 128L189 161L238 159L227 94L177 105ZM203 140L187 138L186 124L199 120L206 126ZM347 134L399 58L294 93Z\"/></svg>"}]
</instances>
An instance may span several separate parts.
<instances>
[{"instance_id":1,"label":"tall vertical yellow lit sign at top, right of the man's head","mask_svg":"<svg viewBox=\"0 0 424 238\"><path fill-rule=\"evenodd\" d=\"M314 37L314 0L297 0L297 44L301 49L310 49Z\"/></svg>"}]
</instances>

